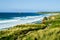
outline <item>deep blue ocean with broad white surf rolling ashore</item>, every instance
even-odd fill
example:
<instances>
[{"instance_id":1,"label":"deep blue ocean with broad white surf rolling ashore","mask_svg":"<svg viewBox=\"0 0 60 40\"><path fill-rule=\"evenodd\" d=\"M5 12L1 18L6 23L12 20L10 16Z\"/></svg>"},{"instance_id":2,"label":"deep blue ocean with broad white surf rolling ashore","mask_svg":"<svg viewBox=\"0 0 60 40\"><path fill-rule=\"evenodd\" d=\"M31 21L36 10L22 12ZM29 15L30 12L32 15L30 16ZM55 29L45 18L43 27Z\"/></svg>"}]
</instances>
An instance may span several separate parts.
<instances>
[{"instance_id":1,"label":"deep blue ocean with broad white surf rolling ashore","mask_svg":"<svg viewBox=\"0 0 60 40\"><path fill-rule=\"evenodd\" d=\"M0 29L13 27L19 24L42 21L44 17L50 15L51 14L37 13L0 13Z\"/></svg>"}]
</instances>

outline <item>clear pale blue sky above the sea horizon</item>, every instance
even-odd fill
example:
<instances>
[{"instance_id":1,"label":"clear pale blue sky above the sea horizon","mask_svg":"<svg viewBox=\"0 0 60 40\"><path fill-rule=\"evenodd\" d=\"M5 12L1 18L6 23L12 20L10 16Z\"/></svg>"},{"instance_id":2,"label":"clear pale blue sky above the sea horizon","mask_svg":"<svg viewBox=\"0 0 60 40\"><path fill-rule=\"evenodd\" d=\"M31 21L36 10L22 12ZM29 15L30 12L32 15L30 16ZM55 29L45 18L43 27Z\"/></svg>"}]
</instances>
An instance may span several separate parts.
<instances>
[{"instance_id":1,"label":"clear pale blue sky above the sea horizon","mask_svg":"<svg viewBox=\"0 0 60 40\"><path fill-rule=\"evenodd\" d=\"M60 0L0 0L0 12L60 11Z\"/></svg>"}]
</instances>

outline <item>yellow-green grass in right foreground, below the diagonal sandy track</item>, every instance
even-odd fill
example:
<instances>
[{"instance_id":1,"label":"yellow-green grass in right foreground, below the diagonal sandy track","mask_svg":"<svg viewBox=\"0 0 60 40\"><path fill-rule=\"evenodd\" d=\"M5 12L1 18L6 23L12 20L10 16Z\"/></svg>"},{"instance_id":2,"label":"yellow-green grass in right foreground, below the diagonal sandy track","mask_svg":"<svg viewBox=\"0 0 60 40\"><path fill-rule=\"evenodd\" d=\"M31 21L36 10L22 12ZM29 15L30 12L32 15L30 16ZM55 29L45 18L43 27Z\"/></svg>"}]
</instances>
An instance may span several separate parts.
<instances>
[{"instance_id":1,"label":"yellow-green grass in right foreground, below the diagonal sandy track","mask_svg":"<svg viewBox=\"0 0 60 40\"><path fill-rule=\"evenodd\" d=\"M60 28L38 30L27 34L23 40L60 40Z\"/></svg>"}]
</instances>

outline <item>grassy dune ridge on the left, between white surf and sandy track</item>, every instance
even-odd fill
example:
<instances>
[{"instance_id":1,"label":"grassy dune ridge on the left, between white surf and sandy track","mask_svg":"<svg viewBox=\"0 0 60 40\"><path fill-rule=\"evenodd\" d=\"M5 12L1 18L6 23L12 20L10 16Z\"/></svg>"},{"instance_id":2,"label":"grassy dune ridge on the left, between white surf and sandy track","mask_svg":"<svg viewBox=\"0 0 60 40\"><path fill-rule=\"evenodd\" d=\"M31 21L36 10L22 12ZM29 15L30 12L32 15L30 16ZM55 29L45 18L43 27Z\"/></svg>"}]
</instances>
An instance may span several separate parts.
<instances>
[{"instance_id":1,"label":"grassy dune ridge on the left, between white surf and sandy track","mask_svg":"<svg viewBox=\"0 0 60 40\"><path fill-rule=\"evenodd\" d=\"M17 40L25 37L29 32L42 30L46 27L44 24L17 25L13 28L0 31L0 40Z\"/></svg>"}]
</instances>

